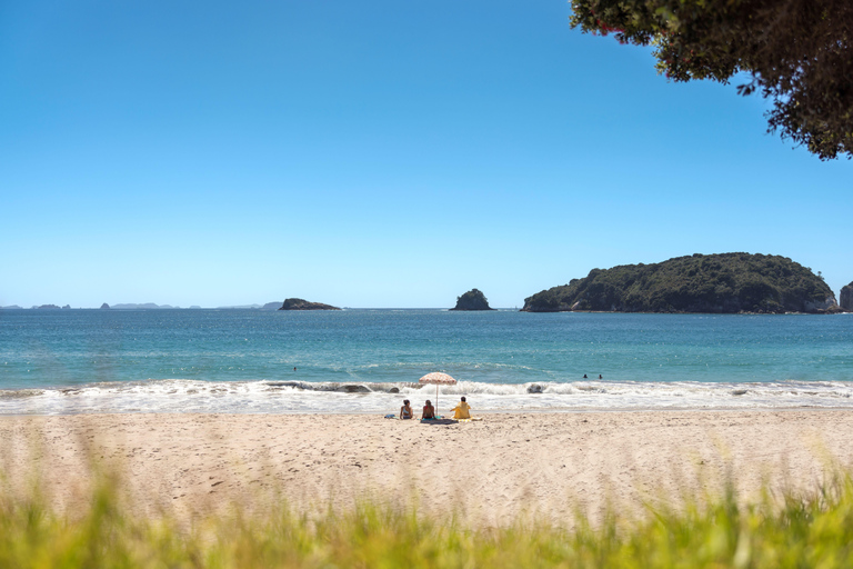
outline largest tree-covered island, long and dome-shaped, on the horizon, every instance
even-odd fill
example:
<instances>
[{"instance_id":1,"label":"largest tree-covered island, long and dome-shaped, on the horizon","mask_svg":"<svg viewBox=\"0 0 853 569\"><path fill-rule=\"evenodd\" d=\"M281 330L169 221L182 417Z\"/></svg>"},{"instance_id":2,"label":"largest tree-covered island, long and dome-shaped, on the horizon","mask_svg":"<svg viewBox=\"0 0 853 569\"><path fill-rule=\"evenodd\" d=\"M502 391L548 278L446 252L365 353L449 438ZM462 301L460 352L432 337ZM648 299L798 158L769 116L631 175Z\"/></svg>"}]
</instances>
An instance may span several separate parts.
<instances>
[{"instance_id":1,"label":"largest tree-covered island, long and dome-shaped, on the horizon","mask_svg":"<svg viewBox=\"0 0 853 569\"><path fill-rule=\"evenodd\" d=\"M720 253L593 269L524 299L525 312L827 313L842 311L823 279L786 257Z\"/></svg>"}]
</instances>

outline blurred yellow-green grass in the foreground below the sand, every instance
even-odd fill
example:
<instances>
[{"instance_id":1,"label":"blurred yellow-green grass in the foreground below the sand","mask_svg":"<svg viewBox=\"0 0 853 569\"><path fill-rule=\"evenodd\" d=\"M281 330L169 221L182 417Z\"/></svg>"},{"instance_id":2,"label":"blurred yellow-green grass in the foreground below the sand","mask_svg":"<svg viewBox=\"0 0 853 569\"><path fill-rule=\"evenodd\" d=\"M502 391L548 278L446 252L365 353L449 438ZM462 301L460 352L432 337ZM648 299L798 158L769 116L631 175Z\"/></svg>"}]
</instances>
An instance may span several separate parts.
<instances>
[{"instance_id":1,"label":"blurred yellow-green grass in the foreground below the sand","mask_svg":"<svg viewBox=\"0 0 853 569\"><path fill-rule=\"evenodd\" d=\"M652 509L639 521L611 510L568 530L519 521L464 527L417 511L364 503L308 519L209 518L178 529L168 516L136 519L108 481L88 511L62 519L38 498L0 501L0 568L834 568L853 567L853 482L744 507L733 492Z\"/></svg>"}]
</instances>

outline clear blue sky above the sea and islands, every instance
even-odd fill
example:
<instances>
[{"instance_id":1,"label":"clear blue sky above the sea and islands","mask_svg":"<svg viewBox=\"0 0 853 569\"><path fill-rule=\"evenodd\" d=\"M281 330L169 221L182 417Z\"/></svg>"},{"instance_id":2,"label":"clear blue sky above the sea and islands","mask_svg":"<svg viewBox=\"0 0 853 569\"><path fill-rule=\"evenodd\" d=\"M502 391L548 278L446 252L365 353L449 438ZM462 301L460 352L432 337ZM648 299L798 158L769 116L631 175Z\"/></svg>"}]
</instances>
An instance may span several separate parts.
<instances>
[{"instance_id":1,"label":"clear blue sky above the sea and islands","mask_svg":"<svg viewBox=\"0 0 853 569\"><path fill-rule=\"evenodd\" d=\"M853 162L570 11L0 3L0 306L521 307L729 251L853 280Z\"/></svg>"}]
</instances>

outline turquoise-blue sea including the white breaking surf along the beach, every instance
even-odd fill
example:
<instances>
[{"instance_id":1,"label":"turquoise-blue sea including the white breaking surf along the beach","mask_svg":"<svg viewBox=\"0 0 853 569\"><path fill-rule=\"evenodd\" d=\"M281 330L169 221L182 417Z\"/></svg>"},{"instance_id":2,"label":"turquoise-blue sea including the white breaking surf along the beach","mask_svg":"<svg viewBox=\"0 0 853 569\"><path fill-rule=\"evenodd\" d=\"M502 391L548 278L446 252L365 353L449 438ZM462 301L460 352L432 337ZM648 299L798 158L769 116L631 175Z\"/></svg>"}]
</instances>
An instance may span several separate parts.
<instances>
[{"instance_id":1,"label":"turquoise-blue sea including the white breaking surf along the beach","mask_svg":"<svg viewBox=\"0 0 853 569\"><path fill-rule=\"evenodd\" d=\"M853 315L0 311L0 413L393 411L430 371L480 410L853 407Z\"/></svg>"}]
</instances>

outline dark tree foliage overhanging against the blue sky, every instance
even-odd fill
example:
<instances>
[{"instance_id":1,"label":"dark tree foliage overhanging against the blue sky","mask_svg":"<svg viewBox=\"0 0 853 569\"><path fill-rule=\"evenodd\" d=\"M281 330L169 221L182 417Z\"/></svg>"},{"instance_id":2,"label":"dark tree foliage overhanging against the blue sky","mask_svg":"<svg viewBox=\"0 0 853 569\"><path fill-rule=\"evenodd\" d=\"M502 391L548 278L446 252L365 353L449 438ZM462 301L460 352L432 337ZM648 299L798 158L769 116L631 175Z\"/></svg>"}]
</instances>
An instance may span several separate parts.
<instances>
[{"instance_id":1,"label":"dark tree foliage overhanging against the blue sky","mask_svg":"<svg viewBox=\"0 0 853 569\"><path fill-rule=\"evenodd\" d=\"M652 44L675 81L727 82L773 101L769 131L822 160L853 156L851 0L572 0L572 27Z\"/></svg>"}]
</instances>

